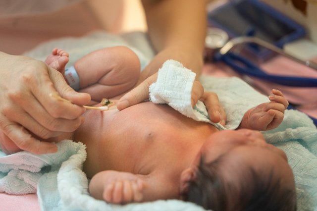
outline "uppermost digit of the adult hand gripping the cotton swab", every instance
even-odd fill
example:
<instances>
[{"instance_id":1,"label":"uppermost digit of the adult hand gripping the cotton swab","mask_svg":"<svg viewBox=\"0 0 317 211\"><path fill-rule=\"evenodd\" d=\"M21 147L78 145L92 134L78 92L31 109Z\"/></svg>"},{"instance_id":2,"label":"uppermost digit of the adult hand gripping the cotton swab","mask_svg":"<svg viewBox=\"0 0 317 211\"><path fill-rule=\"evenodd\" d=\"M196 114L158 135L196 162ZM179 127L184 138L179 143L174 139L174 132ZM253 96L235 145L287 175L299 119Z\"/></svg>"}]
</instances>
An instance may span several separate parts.
<instances>
[{"instance_id":1,"label":"uppermost digit of the adult hand gripping the cotton swab","mask_svg":"<svg viewBox=\"0 0 317 211\"><path fill-rule=\"evenodd\" d=\"M67 99L78 106L87 105L91 101L91 97L88 93L79 93L73 90L66 83L63 75L57 70L49 67L49 75L53 86L62 98Z\"/></svg>"}]
</instances>

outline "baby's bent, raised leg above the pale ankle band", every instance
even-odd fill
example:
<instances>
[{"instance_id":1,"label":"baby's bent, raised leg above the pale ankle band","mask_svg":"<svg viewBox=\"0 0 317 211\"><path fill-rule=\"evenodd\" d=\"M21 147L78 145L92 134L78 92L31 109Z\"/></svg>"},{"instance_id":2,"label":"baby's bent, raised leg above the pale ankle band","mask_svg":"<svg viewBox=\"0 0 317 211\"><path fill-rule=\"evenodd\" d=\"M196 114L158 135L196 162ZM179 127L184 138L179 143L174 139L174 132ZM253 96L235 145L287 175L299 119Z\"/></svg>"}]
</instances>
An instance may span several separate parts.
<instances>
[{"instance_id":1,"label":"baby's bent, raised leg above the pale ankle band","mask_svg":"<svg viewBox=\"0 0 317 211\"><path fill-rule=\"evenodd\" d=\"M126 47L94 51L74 63L80 78L81 92L92 100L118 96L136 85L140 75L138 56Z\"/></svg>"}]
</instances>

